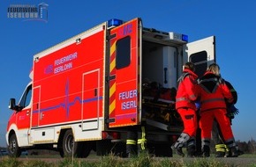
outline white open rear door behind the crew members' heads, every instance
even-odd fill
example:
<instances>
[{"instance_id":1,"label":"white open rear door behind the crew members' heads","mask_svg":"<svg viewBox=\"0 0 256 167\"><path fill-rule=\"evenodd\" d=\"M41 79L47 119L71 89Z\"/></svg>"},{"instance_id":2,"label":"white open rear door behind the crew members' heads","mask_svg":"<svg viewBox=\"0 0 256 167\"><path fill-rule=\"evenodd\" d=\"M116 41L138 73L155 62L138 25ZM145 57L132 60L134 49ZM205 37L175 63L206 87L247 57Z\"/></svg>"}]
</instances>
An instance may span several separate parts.
<instances>
[{"instance_id":1,"label":"white open rear door behind the crew members' heads","mask_svg":"<svg viewBox=\"0 0 256 167\"><path fill-rule=\"evenodd\" d=\"M196 66L195 73L199 77L203 76L207 66L215 62L215 36L188 43L185 52L188 55L188 61Z\"/></svg>"}]
</instances>

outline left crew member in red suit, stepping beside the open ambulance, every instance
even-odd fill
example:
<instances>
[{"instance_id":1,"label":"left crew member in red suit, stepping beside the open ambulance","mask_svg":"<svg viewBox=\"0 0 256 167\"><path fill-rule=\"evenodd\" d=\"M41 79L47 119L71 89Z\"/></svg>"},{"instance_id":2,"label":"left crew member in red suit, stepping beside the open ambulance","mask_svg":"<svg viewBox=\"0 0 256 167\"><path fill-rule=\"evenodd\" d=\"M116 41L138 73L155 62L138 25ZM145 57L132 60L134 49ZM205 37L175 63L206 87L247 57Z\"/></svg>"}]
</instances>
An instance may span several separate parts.
<instances>
[{"instance_id":1,"label":"left crew member in red suit, stepping beside the open ambulance","mask_svg":"<svg viewBox=\"0 0 256 167\"><path fill-rule=\"evenodd\" d=\"M188 156L195 156L195 136L198 127L195 101L198 97L198 85L196 84L198 76L194 70L192 62L185 63L183 75L178 79L176 109L183 120L184 130L171 148L176 150L180 156L184 156L182 148L185 143Z\"/></svg>"}]
</instances>

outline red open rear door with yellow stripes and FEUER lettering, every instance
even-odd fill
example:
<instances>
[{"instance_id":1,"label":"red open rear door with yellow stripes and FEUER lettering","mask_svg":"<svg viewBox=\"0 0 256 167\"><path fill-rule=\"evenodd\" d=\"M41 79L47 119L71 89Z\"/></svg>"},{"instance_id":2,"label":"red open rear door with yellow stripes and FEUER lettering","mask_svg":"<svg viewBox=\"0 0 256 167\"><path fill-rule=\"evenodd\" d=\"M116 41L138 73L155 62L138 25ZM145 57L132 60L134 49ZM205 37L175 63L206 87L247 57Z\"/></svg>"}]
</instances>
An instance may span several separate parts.
<instances>
[{"instance_id":1,"label":"red open rear door with yellow stripes and FEUER lettering","mask_svg":"<svg viewBox=\"0 0 256 167\"><path fill-rule=\"evenodd\" d=\"M135 18L110 30L109 127L139 124L139 24Z\"/></svg>"}]
</instances>

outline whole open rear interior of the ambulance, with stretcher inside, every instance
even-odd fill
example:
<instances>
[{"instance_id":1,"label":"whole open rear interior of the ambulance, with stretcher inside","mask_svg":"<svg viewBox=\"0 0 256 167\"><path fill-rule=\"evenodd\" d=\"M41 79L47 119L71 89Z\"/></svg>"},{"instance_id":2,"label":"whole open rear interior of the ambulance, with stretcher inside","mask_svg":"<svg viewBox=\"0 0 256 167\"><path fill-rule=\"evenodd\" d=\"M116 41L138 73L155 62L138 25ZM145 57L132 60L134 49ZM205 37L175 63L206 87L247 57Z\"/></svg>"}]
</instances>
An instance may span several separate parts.
<instances>
[{"instance_id":1,"label":"whole open rear interior of the ambulance, with stretcher inside","mask_svg":"<svg viewBox=\"0 0 256 167\"><path fill-rule=\"evenodd\" d=\"M142 33L142 106L149 123L164 130L182 126L175 97L177 79L182 73L183 45L184 42L170 40L169 33Z\"/></svg>"}]
</instances>

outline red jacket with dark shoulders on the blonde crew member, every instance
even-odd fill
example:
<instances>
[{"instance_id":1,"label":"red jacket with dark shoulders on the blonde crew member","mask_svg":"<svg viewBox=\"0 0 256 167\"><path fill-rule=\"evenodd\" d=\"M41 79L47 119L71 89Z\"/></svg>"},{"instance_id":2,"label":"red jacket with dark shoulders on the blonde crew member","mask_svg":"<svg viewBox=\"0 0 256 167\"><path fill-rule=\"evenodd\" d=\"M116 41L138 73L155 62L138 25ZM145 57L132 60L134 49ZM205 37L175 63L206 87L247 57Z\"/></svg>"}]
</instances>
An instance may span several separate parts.
<instances>
[{"instance_id":1,"label":"red jacket with dark shoulders on the blonde crew member","mask_svg":"<svg viewBox=\"0 0 256 167\"><path fill-rule=\"evenodd\" d=\"M214 73L206 72L200 78L200 111L226 108L225 98L232 103L233 97L225 81Z\"/></svg>"}]
</instances>

